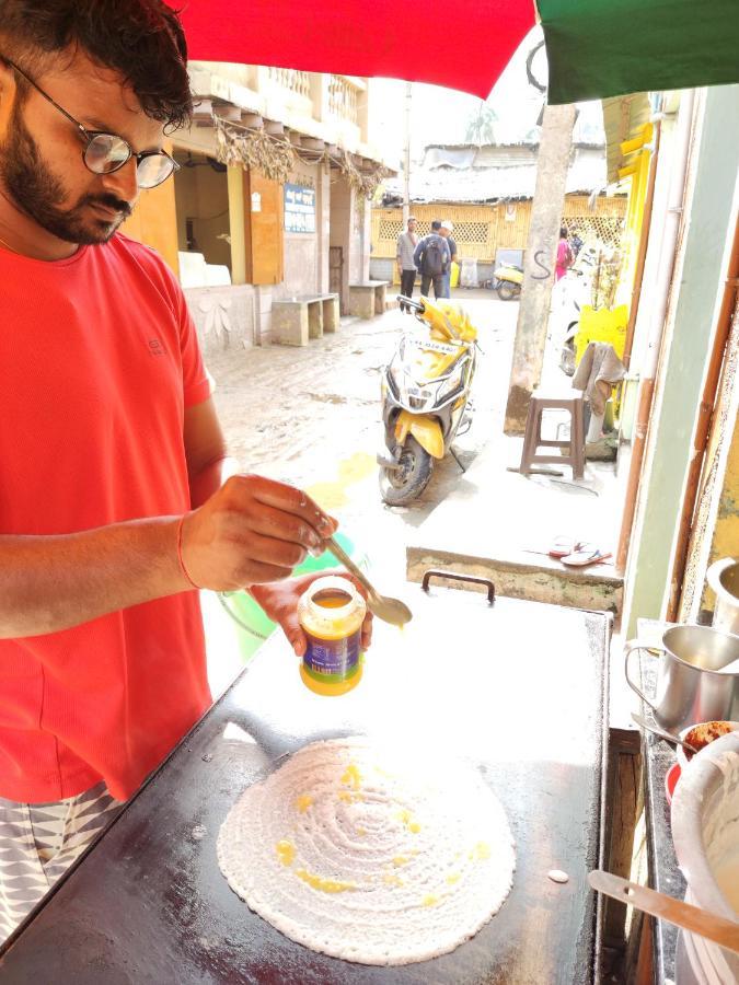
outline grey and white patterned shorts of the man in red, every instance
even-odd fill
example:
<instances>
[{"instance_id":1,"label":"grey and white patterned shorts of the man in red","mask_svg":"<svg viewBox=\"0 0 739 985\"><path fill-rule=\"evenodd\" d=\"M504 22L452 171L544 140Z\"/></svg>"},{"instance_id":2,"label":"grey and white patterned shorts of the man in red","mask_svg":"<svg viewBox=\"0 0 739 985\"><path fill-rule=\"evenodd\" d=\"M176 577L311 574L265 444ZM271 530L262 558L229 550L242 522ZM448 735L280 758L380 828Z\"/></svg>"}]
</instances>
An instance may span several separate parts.
<instances>
[{"instance_id":1,"label":"grey and white patterned shorts of the man in red","mask_svg":"<svg viewBox=\"0 0 739 985\"><path fill-rule=\"evenodd\" d=\"M104 783L55 803L0 797L0 943L122 807Z\"/></svg>"}]
</instances>

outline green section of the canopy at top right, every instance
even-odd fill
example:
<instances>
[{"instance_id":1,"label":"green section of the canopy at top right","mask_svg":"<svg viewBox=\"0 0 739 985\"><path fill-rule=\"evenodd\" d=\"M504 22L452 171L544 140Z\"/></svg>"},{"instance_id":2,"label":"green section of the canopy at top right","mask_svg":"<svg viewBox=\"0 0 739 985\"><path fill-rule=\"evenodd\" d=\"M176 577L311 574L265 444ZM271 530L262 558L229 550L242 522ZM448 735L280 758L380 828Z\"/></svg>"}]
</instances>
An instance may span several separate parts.
<instances>
[{"instance_id":1,"label":"green section of the canopy at top right","mask_svg":"<svg viewBox=\"0 0 739 985\"><path fill-rule=\"evenodd\" d=\"M538 0L549 102L739 82L739 0Z\"/></svg>"}]
</instances>

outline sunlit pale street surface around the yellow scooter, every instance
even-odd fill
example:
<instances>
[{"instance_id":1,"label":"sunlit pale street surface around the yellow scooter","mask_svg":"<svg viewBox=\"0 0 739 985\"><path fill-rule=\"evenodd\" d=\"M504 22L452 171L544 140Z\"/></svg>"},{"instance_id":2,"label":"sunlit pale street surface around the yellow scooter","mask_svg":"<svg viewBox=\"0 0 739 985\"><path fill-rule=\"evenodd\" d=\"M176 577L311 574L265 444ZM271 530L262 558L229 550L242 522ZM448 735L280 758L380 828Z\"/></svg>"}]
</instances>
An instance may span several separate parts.
<instances>
[{"instance_id":1,"label":"sunlit pale street surface around the yellow scooter","mask_svg":"<svg viewBox=\"0 0 739 985\"><path fill-rule=\"evenodd\" d=\"M455 443L469 465L503 425L518 304L488 291L460 291L458 299L478 327L483 350L473 426ZM382 439L380 375L412 325L409 316L392 311L370 322L345 320L336 335L305 348L231 348L208 358L218 413L241 467L308 489L367 555L380 590L401 595L408 535L464 482L448 459L412 506L391 509L380 497L374 461ZM219 693L240 656L216 596L204 592L203 603L211 684Z\"/></svg>"}]
</instances>

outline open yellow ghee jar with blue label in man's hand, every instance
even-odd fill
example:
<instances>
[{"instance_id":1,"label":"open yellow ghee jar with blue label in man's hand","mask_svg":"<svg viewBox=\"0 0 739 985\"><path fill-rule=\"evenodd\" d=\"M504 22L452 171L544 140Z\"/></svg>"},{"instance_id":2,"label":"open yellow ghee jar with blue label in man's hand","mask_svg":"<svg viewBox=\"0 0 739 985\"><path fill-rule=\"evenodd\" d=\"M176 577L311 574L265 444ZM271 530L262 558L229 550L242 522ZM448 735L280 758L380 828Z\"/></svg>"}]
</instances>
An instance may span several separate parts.
<instances>
[{"instance_id":1,"label":"open yellow ghee jar with blue label in man's hand","mask_svg":"<svg viewBox=\"0 0 739 985\"><path fill-rule=\"evenodd\" d=\"M354 584L338 575L316 579L298 602L308 637L300 665L303 684L316 694L346 694L361 680L361 624L367 605Z\"/></svg>"}]
</instances>

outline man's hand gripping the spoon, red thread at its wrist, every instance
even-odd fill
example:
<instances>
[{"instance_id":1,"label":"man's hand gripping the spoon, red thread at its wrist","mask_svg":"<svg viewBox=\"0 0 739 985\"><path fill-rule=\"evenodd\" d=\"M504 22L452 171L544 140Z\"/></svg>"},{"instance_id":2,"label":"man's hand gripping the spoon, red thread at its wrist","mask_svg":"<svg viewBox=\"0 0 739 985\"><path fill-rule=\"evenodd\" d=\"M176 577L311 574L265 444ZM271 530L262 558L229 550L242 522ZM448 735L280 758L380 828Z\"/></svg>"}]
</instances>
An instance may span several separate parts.
<instances>
[{"instance_id":1,"label":"man's hand gripping the spoon, red thread at its wrist","mask_svg":"<svg viewBox=\"0 0 739 985\"><path fill-rule=\"evenodd\" d=\"M182 561L198 588L213 591L279 581L336 526L295 486L234 475L185 517Z\"/></svg>"}]
</instances>

